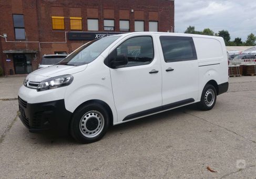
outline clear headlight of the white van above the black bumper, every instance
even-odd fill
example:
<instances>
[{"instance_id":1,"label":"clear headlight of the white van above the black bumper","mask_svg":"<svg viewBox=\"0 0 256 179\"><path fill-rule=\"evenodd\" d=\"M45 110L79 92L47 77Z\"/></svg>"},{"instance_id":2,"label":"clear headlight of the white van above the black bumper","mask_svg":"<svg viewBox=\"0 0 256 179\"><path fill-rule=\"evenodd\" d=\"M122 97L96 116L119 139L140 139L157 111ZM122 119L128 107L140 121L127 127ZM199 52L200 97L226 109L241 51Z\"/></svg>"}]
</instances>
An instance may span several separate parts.
<instances>
[{"instance_id":1,"label":"clear headlight of the white van above the black bumper","mask_svg":"<svg viewBox=\"0 0 256 179\"><path fill-rule=\"evenodd\" d=\"M37 91L45 91L49 89L55 89L59 87L65 87L71 84L74 77L71 75L62 75L53 78L43 80L37 86Z\"/></svg>"}]
</instances>

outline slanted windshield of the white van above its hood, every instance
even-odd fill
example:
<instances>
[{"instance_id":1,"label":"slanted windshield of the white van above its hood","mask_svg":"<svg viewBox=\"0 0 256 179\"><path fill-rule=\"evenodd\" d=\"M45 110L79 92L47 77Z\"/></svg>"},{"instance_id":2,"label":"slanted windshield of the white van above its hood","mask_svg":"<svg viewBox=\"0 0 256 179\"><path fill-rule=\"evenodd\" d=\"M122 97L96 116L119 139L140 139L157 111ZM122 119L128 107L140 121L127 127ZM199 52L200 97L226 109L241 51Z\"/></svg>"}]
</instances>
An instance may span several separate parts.
<instances>
[{"instance_id":1,"label":"slanted windshield of the white van above its hood","mask_svg":"<svg viewBox=\"0 0 256 179\"><path fill-rule=\"evenodd\" d=\"M101 39L89 41L85 45L76 49L72 54L60 61L58 65L80 66L89 64L95 60L110 44L120 36L109 36Z\"/></svg>"}]
</instances>

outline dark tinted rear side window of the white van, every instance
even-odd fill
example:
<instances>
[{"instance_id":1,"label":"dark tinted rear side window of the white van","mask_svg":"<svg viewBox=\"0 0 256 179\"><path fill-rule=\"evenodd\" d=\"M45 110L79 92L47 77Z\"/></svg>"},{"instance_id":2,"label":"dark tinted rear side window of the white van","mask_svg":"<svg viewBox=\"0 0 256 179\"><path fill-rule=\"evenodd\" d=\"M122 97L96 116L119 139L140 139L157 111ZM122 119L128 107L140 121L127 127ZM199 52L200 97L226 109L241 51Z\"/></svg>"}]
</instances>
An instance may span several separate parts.
<instances>
[{"instance_id":1,"label":"dark tinted rear side window of the white van","mask_svg":"<svg viewBox=\"0 0 256 179\"><path fill-rule=\"evenodd\" d=\"M166 62L197 59L192 37L160 36L160 42Z\"/></svg>"}]
</instances>

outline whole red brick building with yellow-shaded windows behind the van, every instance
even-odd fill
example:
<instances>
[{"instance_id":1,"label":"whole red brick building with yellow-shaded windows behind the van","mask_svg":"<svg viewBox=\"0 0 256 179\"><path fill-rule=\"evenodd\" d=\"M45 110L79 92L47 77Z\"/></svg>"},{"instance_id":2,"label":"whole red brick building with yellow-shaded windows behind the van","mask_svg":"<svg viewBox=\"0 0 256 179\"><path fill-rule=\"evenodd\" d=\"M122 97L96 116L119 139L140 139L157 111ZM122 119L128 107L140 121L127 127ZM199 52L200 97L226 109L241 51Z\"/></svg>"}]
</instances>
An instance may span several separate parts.
<instances>
[{"instance_id":1,"label":"whole red brick building with yellow-shaded windows behind the van","mask_svg":"<svg viewBox=\"0 0 256 179\"><path fill-rule=\"evenodd\" d=\"M129 31L174 31L170 0L0 1L0 66L37 69L43 55L69 54L89 40Z\"/></svg>"}]
</instances>

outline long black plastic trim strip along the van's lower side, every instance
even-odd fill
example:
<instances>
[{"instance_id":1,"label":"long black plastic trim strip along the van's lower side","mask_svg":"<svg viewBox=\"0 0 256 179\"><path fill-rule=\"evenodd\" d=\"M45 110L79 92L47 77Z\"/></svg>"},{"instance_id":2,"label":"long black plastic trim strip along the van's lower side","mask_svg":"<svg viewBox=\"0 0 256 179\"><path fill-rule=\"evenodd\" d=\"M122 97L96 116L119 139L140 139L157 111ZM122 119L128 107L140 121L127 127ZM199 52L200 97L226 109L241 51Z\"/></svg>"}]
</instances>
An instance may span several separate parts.
<instances>
[{"instance_id":1,"label":"long black plastic trim strip along the van's lower side","mask_svg":"<svg viewBox=\"0 0 256 179\"><path fill-rule=\"evenodd\" d=\"M125 119L123 119L122 121L127 121L127 120L130 120L130 119L142 117L144 115L148 115L148 114L152 114L152 113L156 113L156 112L160 112L160 111L165 111L165 110L171 109L171 108L176 108L176 107L179 107L179 106L191 103L191 102L194 102L193 98L173 102L173 103L170 103L170 104L166 104L166 105L159 106L159 107L156 107L156 108L148 109L148 110L145 110L145 111L136 112L134 114L127 115L127 117L125 117Z\"/></svg>"}]
</instances>

